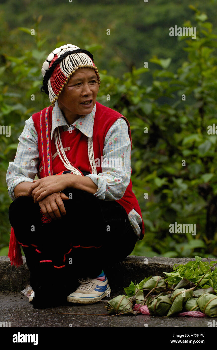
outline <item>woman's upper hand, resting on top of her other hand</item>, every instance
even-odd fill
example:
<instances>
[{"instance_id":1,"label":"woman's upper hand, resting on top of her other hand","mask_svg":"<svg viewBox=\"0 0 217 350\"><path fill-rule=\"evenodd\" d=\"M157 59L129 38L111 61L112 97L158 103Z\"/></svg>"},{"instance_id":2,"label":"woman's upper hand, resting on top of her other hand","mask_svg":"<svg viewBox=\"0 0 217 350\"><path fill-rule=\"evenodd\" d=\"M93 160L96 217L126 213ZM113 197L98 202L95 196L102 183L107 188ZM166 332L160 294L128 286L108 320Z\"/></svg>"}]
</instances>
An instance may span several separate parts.
<instances>
[{"instance_id":1,"label":"woman's upper hand, resting on top of her other hand","mask_svg":"<svg viewBox=\"0 0 217 350\"><path fill-rule=\"evenodd\" d=\"M70 174L73 176L73 174ZM68 176L64 175L51 175L43 177L42 179L34 180L33 184L28 190L28 195L32 196L34 203L43 200L44 197L51 195L52 193L60 192L68 187Z\"/></svg>"}]
</instances>

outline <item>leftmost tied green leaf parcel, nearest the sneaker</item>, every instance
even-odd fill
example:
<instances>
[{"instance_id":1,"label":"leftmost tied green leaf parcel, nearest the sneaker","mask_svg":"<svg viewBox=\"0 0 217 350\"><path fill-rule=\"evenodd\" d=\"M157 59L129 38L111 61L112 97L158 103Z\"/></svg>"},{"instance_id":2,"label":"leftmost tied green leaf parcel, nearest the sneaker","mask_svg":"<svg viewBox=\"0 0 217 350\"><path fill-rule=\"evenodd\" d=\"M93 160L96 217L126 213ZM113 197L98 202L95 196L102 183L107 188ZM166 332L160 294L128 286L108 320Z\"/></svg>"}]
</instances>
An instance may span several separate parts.
<instances>
[{"instance_id":1,"label":"leftmost tied green leaf parcel, nearest the sneaker","mask_svg":"<svg viewBox=\"0 0 217 350\"><path fill-rule=\"evenodd\" d=\"M115 298L108 301L106 309L110 315L115 314L133 314L133 303L125 295L118 295Z\"/></svg>"}]
</instances>

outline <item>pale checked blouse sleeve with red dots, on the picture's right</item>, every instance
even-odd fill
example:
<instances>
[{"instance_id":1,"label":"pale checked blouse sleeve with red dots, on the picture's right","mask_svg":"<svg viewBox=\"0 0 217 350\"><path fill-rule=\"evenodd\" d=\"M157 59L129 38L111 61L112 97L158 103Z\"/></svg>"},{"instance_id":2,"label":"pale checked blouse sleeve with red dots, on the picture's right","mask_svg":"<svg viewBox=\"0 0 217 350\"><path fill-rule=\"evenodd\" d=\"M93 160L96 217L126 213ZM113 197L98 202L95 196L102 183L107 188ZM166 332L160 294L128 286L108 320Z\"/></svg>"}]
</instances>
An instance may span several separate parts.
<instances>
[{"instance_id":1,"label":"pale checked blouse sleeve with red dots, on the picture's right","mask_svg":"<svg viewBox=\"0 0 217 350\"><path fill-rule=\"evenodd\" d=\"M86 175L98 186L94 196L106 201L123 197L130 183L130 153L128 126L124 118L119 118L109 129L104 142L102 173Z\"/></svg>"}]
</instances>

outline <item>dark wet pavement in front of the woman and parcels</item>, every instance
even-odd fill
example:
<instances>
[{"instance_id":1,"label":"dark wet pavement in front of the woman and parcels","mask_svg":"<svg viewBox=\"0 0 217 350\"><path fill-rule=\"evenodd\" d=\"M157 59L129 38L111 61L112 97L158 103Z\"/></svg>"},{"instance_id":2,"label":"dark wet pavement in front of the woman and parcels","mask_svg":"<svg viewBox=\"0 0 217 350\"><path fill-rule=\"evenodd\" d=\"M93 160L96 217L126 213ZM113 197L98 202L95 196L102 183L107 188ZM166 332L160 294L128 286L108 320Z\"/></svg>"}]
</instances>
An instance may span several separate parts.
<instances>
[{"instance_id":1,"label":"dark wet pavement in front of the woman and parcels","mask_svg":"<svg viewBox=\"0 0 217 350\"><path fill-rule=\"evenodd\" d=\"M91 327L91 328L208 328L208 322L213 322L214 318L193 318L193 317L156 317L138 314L122 316L109 315L70 315L59 313L85 313L85 314L106 314L107 300L112 299L123 291L111 291L110 298L92 305L78 305L66 303L62 307L50 309L33 309L28 298L22 293L0 292L1 310L0 321L10 322L10 327ZM215 319L217 324L217 319ZM186 332L186 331L185 331ZM198 333L201 333L198 331Z\"/></svg>"}]
</instances>

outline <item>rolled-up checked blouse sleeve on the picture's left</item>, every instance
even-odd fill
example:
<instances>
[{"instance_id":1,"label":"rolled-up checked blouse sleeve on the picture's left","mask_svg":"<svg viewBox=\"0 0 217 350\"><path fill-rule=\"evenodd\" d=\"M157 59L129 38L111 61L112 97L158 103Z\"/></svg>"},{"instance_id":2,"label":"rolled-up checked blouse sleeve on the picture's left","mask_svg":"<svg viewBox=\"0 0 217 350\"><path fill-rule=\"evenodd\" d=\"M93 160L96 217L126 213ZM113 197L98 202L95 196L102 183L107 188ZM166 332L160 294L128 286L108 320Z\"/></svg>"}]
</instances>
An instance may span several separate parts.
<instances>
[{"instance_id":1,"label":"rolled-up checked blouse sleeve on the picture's left","mask_svg":"<svg viewBox=\"0 0 217 350\"><path fill-rule=\"evenodd\" d=\"M33 182L38 167L38 136L32 117L26 120L26 125L19 137L16 156L9 163L6 174L8 194L12 201L15 200L14 188L21 182Z\"/></svg>"}]
</instances>

